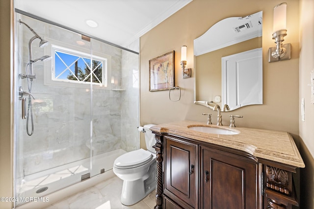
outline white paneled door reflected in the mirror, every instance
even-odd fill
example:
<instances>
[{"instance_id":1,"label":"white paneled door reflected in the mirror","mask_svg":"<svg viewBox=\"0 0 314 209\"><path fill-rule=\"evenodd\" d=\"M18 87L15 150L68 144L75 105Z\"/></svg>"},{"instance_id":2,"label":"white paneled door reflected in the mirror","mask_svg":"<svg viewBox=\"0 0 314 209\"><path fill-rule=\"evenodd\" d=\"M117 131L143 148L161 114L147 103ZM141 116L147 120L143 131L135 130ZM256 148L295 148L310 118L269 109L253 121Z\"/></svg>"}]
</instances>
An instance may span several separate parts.
<instances>
[{"instance_id":1,"label":"white paneled door reflected in the mirror","mask_svg":"<svg viewBox=\"0 0 314 209\"><path fill-rule=\"evenodd\" d=\"M222 107L262 104L262 48L221 58Z\"/></svg>"}]
</instances>

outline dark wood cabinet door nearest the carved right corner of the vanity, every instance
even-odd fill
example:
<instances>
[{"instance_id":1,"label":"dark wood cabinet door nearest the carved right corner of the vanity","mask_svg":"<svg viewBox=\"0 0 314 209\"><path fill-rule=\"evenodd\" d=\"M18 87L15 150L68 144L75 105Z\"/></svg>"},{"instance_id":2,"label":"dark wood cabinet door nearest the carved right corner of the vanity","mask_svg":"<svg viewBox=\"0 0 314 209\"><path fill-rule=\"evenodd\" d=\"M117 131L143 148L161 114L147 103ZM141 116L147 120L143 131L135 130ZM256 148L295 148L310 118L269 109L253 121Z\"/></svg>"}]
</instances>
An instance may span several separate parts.
<instances>
[{"instance_id":1,"label":"dark wood cabinet door nearest the carved right corner of the vanity","mask_svg":"<svg viewBox=\"0 0 314 209\"><path fill-rule=\"evenodd\" d=\"M245 157L201 148L200 208L258 209L259 166Z\"/></svg>"}]
</instances>

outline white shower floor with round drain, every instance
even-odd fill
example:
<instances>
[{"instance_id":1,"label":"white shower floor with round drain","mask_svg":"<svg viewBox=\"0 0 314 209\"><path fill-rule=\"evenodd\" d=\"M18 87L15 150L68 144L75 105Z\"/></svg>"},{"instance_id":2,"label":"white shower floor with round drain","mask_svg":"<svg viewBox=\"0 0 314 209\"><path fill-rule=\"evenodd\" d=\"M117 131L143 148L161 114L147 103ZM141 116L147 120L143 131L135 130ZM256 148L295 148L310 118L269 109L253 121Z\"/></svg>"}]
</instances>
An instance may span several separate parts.
<instances>
[{"instance_id":1,"label":"white shower floor with round drain","mask_svg":"<svg viewBox=\"0 0 314 209\"><path fill-rule=\"evenodd\" d=\"M18 188L19 197L40 197L51 192L73 185L81 181L81 175L90 172L90 177L112 169L114 160L126 153L123 149L114 150L108 153L93 157L92 170L90 170L90 158L81 161L68 163L49 170L25 176L22 185ZM87 180L88 181L88 180ZM45 187L48 187L45 190ZM36 193L38 190L43 192Z\"/></svg>"}]
</instances>

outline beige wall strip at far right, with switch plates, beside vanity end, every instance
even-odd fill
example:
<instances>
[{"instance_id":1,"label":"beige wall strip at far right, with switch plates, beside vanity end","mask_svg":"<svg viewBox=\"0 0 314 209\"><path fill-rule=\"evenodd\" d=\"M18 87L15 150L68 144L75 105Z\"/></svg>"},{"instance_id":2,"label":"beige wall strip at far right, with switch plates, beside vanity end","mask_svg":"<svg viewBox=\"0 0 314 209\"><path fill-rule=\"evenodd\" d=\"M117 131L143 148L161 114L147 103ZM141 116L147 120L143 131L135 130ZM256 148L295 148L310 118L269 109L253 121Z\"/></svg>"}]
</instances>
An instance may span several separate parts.
<instances>
[{"instance_id":1,"label":"beige wall strip at far right, with switch plates, beside vanity end","mask_svg":"<svg viewBox=\"0 0 314 209\"><path fill-rule=\"evenodd\" d=\"M314 1L300 0L300 98L305 99L305 121L299 121L301 169L300 209L314 208L314 104L311 104L310 73L314 70Z\"/></svg>"}]
</instances>

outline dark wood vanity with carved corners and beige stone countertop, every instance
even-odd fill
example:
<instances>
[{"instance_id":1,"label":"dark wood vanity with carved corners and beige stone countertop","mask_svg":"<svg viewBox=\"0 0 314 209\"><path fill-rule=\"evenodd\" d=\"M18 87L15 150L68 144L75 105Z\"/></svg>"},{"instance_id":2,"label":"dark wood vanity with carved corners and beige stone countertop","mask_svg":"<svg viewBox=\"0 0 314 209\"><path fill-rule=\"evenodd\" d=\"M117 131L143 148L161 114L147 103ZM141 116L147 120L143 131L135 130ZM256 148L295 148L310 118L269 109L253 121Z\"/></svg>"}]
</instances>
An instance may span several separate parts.
<instances>
[{"instance_id":1,"label":"dark wood vanity with carved corners and beige stone countertop","mask_svg":"<svg viewBox=\"0 0 314 209\"><path fill-rule=\"evenodd\" d=\"M217 135L190 126L207 125L180 121L151 128L157 140L155 209L298 206L292 173L305 165L287 132L234 128L240 133Z\"/></svg>"}]
</instances>

